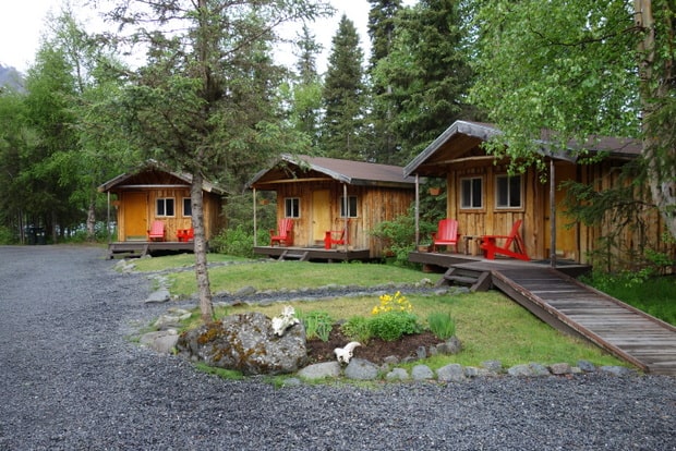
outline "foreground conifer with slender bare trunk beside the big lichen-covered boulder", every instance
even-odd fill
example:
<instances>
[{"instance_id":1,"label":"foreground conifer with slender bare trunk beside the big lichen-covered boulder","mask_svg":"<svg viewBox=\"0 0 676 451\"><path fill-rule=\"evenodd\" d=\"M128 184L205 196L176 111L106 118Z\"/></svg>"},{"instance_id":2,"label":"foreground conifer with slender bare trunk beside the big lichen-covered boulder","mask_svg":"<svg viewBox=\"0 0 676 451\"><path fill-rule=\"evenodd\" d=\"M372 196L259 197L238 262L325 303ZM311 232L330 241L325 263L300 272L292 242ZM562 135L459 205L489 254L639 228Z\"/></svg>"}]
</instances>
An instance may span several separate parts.
<instances>
[{"instance_id":1,"label":"foreground conifer with slender bare trunk beside the big lichen-covered boulder","mask_svg":"<svg viewBox=\"0 0 676 451\"><path fill-rule=\"evenodd\" d=\"M148 63L134 74L119 111L140 148L192 175L195 277L202 318L210 321L204 180L225 174L238 183L269 153L293 145L273 101L281 76L270 58L274 29L329 8L312 0L114 2L111 17L137 26L132 40L149 45Z\"/></svg>"}]
</instances>

